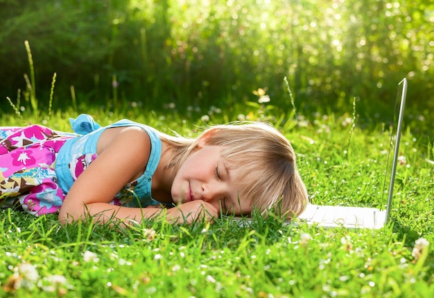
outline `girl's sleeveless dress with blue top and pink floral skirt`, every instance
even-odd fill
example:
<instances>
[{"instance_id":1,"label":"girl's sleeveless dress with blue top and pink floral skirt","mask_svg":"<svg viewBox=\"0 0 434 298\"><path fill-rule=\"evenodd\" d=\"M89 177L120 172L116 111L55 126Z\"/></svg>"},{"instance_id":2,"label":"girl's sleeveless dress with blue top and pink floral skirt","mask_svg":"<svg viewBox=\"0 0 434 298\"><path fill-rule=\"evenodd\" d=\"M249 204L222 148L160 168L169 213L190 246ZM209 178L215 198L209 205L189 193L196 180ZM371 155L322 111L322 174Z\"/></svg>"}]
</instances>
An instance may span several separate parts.
<instances>
[{"instance_id":1,"label":"girl's sleeveless dress with blue top and pink floral skirt","mask_svg":"<svg viewBox=\"0 0 434 298\"><path fill-rule=\"evenodd\" d=\"M155 129L128 119L101 127L84 114L70 122L76 133L40 125L0 127L0 207L21 208L35 216L57 213L73 182L98 157L101 133L119 126L144 129L150 136L151 152L145 172L119 190L110 203L128 207L160 204L150 193L161 156Z\"/></svg>"}]
</instances>

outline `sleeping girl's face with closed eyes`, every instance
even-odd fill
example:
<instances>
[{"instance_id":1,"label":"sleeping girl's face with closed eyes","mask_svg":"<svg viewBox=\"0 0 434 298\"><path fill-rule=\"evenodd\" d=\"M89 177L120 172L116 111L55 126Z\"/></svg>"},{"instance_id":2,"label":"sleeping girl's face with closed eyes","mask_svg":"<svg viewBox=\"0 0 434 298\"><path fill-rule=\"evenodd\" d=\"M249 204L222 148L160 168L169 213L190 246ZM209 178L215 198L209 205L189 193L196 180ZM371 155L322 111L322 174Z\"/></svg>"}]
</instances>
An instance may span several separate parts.
<instances>
[{"instance_id":1,"label":"sleeping girl's face with closed eyes","mask_svg":"<svg viewBox=\"0 0 434 298\"><path fill-rule=\"evenodd\" d=\"M219 211L221 206L222 213L251 212L250 200L238 198L239 187L234 181L236 170L228 169L221 156L222 149L199 141L198 149L182 163L173 180L171 194L175 204L202 200Z\"/></svg>"}]
</instances>

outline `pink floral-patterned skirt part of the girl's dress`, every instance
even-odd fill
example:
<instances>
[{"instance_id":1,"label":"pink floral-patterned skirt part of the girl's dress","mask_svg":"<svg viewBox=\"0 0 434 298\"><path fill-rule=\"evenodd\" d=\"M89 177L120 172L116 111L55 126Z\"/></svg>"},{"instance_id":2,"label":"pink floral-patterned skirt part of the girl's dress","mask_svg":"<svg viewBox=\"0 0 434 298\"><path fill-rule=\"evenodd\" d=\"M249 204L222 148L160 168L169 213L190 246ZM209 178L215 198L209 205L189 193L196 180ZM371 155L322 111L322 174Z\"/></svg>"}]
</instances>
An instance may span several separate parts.
<instances>
[{"instance_id":1,"label":"pink floral-patterned skirt part of the girl's dress","mask_svg":"<svg viewBox=\"0 0 434 298\"><path fill-rule=\"evenodd\" d=\"M72 135L39 125L0 127L0 205L33 215L55 213L64 200L55 158Z\"/></svg>"}]
</instances>

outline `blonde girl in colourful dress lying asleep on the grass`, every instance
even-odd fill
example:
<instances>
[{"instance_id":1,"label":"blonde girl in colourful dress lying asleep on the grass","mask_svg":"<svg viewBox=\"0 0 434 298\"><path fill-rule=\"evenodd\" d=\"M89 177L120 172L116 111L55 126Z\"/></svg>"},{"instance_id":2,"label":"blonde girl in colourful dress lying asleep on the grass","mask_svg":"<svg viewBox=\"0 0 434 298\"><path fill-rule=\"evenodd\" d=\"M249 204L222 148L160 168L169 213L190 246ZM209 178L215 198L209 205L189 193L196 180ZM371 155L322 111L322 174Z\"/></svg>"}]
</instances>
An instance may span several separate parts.
<instances>
[{"instance_id":1,"label":"blonde girl in colourful dress lying asleep on the grass","mask_svg":"<svg viewBox=\"0 0 434 298\"><path fill-rule=\"evenodd\" d=\"M106 127L89 115L70 122L75 134L0 128L2 207L58 213L63 223L90 215L128 224L157 215L212 220L253 208L290 220L308 203L293 148L267 124L212 126L186 139L127 119Z\"/></svg>"}]
</instances>

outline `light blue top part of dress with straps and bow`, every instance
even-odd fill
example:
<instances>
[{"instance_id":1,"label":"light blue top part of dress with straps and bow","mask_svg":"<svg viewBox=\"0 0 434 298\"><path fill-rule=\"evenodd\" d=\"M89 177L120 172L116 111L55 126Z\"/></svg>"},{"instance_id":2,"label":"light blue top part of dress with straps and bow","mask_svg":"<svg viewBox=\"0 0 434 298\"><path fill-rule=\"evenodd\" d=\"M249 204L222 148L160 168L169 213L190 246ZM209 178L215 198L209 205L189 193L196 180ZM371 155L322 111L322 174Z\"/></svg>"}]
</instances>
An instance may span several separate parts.
<instances>
[{"instance_id":1,"label":"light blue top part of dress with straps and bow","mask_svg":"<svg viewBox=\"0 0 434 298\"><path fill-rule=\"evenodd\" d=\"M162 155L162 142L159 139L157 131L150 126L132 122L128 119L122 119L119 122L109 126L101 127L89 115L79 115L76 119L69 119L72 129L78 133L76 138L71 138L64 143L60 149L55 161L55 174L58 178L58 184L65 194L69 192L76 177L71 165L76 163L78 158L84 156L93 156L96 158L96 144L105 129L121 126L137 126L144 129L150 138L150 156L144 174L138 179L125 185L125 187L116 194L115 200L118 199L119 205L128 207L145 207L149 205L160 204L151 196L152 177L157 169L159 158ZM84 160L84 158L83 158ZM87 160L89 163L92 160ZM114 202L113 204L116 204Z\"/></svg>"}]
</instances>

